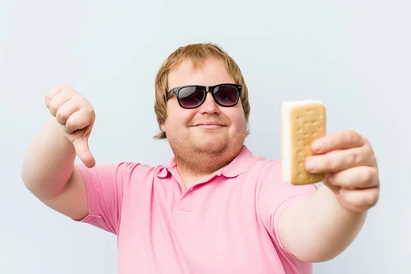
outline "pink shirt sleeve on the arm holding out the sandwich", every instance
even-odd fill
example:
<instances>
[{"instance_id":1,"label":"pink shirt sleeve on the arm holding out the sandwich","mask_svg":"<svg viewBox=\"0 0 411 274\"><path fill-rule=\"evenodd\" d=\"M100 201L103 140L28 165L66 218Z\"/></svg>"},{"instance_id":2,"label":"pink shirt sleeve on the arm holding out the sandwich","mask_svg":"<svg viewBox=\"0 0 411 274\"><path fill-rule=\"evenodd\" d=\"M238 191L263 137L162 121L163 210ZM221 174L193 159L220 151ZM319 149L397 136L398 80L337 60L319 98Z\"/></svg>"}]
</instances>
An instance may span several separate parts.
<instances>
[{"instance_id":1,"label":"pink shirt sleeve on the arm holding out the sandwich","mask_svg":"<svg viewBox=\"0 0 411 274\"><path fill-rule=\"evenodd\" d=\"M277 169L277 167L275 169ZM315 184L302 186L288 184L282 181L281 173L278 169L273 174L275 174L275 176L271 176L269 180L264 182L260 189L257 203L258 213L260 214L265 229L269 232L278 247L285 252L286 255L295 258L295 256L285 249L279 239L278 220L288 206L311 195L316 191L317 186Z\"/></svg>"}]
</instances>

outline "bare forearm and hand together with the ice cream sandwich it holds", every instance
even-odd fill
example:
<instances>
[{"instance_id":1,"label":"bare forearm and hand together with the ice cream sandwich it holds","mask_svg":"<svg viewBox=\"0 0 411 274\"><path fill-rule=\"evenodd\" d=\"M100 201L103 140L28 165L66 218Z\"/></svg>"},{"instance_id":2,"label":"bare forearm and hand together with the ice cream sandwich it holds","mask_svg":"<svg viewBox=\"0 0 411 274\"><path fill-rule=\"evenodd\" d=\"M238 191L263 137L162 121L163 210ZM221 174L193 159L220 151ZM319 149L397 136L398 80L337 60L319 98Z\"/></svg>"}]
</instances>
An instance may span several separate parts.
<instances>
[{"instance_id":1,"label":"bare forearm and hand together with the ice cream sandwich it holds","mask_svg":"<svg viewBox=\"0 0 411 274\"><path fill-rule=\"evenodd\" d=\"M379 196L369 141L351 130L327 135L321 101L283 104L282 177L290 189L323 182L288 206L278 224L284 247L310 262L331 260L345 250Z\"/></svg>"}]
</instances>

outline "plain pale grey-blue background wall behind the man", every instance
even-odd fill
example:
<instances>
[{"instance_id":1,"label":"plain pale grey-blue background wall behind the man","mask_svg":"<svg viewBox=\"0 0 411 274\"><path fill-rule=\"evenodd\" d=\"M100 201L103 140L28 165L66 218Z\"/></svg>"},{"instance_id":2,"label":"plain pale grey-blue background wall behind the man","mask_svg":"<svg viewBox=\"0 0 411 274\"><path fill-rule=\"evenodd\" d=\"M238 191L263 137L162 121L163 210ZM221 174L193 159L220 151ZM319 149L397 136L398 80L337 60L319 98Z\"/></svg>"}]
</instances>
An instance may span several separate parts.
<instances>
[{"instance_id":1,"label":"plain pale grey-blue background wall behind the man","mask_svg":"<svg viewBox=\"0 0 411 274\"><path fill-rule=\"evenodd\" d=\"M314 273L411 273L409 1L1 1L0 273L116 273L116 238L50 210L21 161L69 84L95 106L97 163L166 163L153 83L181 45L216 42L250 90L256 155L279 158L281 102L321 99L328 132L369 137L381 199L356 241ZM327 206L327 205L324 205Z\"/></svg>"}]
</instances>

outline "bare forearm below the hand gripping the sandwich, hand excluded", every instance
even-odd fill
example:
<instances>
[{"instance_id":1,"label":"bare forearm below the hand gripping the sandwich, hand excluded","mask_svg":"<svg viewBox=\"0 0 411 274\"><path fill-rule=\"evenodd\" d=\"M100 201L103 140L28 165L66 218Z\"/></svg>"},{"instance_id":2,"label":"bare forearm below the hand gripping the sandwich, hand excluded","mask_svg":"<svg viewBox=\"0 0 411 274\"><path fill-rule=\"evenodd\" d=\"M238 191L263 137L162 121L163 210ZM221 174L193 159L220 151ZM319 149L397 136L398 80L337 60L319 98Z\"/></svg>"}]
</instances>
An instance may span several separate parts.
<instances>
[{"instance_id":1,"label":"bare forearm below the hand gripping the sandwich, hand excluded","mask_svg":"<svg viewBox=\"0 0 411 274\"><path fill-rule=\"evenodd\" d=\"M308 262L331 260L356 238L366 213L348 212L326 186L292 206L279 219L284 247Z\"/></svg>"}]
</instances>

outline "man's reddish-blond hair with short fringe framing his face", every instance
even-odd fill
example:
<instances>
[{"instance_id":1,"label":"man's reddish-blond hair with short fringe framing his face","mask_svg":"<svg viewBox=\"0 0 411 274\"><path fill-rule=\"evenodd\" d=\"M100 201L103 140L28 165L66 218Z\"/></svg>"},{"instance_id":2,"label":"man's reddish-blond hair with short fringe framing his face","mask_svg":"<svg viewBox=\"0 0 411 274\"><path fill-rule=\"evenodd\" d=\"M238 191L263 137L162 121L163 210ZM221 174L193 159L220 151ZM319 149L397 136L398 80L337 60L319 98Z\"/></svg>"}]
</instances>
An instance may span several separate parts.
<instances>
[{"instance_id":1,"label":"man's reddish-blond hair with short fringe framing his face","mask_svg":"<svg viewBox=\"0 0 411 274\"><path fill-rule=\"evenodd\" d=\"M248 98L248 90L245 84L245 80L242 77L240 67L232 57L228 55L223 49L213 43L199 43L186 45L184 47L179 47L171 55L169 55L166 60L160 66L157 75L155 76L155 103L154 111L155 116L157 116L157 122L160 126L166 120L167 116L167 99L169 96L169 87L168 87L168 76L169 71L177 68L184 60L190 60L192 62L193 69L201 69L203 61L207 58L221 58L225 63L227 72L231 77L233 77L236 84L242 86L242 92L240 97L240 102L242 104L242 109L244 110L245 120L249 121L250 114L250 104ZM247 129L246 135L249 134ZM165 139L166 133L161 131L160 133L154 136L155 139Z\"/></svg>"}]
</instances>

